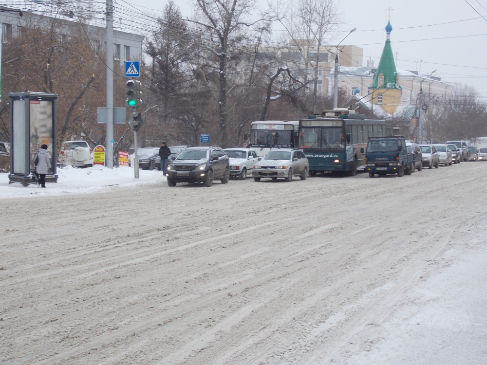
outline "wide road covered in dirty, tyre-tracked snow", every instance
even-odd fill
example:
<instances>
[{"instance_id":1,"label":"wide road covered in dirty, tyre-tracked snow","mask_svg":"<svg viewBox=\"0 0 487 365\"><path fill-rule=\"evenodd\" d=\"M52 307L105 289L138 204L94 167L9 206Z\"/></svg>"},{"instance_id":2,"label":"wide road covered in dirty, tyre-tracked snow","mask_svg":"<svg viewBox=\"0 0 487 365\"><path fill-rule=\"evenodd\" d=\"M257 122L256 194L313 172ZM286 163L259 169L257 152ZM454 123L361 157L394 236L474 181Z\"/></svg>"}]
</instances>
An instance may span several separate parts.
<instances>
[{"instance_id":1,"label":"wide road covered in dirty, tyre-tracked snow","mask_svg":"<svg viewBox=\"0 0 487 365\"><path fill-rule=\"evenodd\" d=\"M1 364L485 364L487 164L2 199Z\"/></svg>"}]
</instances>

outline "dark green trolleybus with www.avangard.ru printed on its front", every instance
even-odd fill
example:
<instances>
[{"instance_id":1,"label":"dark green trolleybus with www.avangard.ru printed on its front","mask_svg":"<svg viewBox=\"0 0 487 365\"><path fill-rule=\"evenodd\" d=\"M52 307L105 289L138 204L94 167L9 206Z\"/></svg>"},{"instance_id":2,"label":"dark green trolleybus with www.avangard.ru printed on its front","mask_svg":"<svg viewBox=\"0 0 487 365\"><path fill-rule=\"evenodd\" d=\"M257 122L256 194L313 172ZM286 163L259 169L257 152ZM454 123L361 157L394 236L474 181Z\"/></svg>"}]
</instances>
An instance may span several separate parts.
<instances>
[{"instance_id":1,"label":"dark green trolleybus with www.avangard.ru printed on its front","mask_svg":"<svg viewBox=\"0 0 487 365\"><path fill-rule=\"evenodd\" d=\"M299 147L309 160L310 175L345 171L355 176L357 169L365 168L369 138L386 136L386 122L337 108L301 119L299 134Z\"/></svg>"}]
</instances>

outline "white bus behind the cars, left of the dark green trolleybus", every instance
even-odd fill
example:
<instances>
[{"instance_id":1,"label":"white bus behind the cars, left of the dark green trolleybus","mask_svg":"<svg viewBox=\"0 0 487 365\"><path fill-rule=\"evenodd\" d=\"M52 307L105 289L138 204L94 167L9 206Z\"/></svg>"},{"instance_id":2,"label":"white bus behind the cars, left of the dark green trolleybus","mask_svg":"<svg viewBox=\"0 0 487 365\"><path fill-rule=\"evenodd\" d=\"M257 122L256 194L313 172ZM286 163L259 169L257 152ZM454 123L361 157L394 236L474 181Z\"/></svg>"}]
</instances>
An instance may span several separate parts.
<instances>
[{"instance_id":1,"label":"white bus behind the cars, left of the dark green trolleybus","mask_svg":"<svg viewBox=\"0 0 487 365\"><path fill-rule=\"evenodd\" d=\"M257 156L265 156L271 148L295 148L298 146L299 121L266 120L252 122L249 148Z\"/></svg>"}]
</instances>

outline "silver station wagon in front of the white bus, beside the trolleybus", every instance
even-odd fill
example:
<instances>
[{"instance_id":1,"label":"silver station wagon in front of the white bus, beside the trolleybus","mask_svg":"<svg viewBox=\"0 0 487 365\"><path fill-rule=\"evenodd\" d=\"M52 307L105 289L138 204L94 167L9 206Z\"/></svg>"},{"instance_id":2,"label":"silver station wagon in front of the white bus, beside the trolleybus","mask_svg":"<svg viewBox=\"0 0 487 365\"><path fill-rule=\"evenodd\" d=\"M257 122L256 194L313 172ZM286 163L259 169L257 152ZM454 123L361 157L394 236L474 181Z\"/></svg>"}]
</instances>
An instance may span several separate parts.
<instances>
[{"instance_id":1,"label":"silver station wagon in front of the white bus, beside the trolleybus","mask_svg":"<svg viewBox=\"0 0 487 365\"><path fill-rule=\"evenodd\" d=\"M262 178L282 178L290 182L294 176L306 180L308 171L309 161L302 151L293 148L273 148L253 166L252 176L254 181L261 181Z\"/></svg>"}]
</instances>

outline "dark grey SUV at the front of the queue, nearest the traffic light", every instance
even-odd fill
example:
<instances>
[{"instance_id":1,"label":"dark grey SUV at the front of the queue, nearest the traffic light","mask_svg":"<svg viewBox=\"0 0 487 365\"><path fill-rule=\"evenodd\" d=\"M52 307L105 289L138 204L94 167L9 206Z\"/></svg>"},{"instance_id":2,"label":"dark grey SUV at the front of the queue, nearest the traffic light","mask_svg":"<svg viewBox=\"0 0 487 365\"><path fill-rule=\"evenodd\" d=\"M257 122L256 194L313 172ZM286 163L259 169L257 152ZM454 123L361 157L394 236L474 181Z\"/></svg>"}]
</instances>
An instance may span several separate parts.
<instances>
[{"instance_id":1,"label":"dark grey SUV at the front of the queue, nearest the traffic light","mask_svg":"<svg viewBox=\"0 0 487 365\"><path fill-rule=\"evenodd\" d=\"M230 178L230 160L218 146L187 147L177 157L171 157L167 175L169 186L176 183L211 186L213 179L226 184Z\"/></svg>"}]
</instances>

